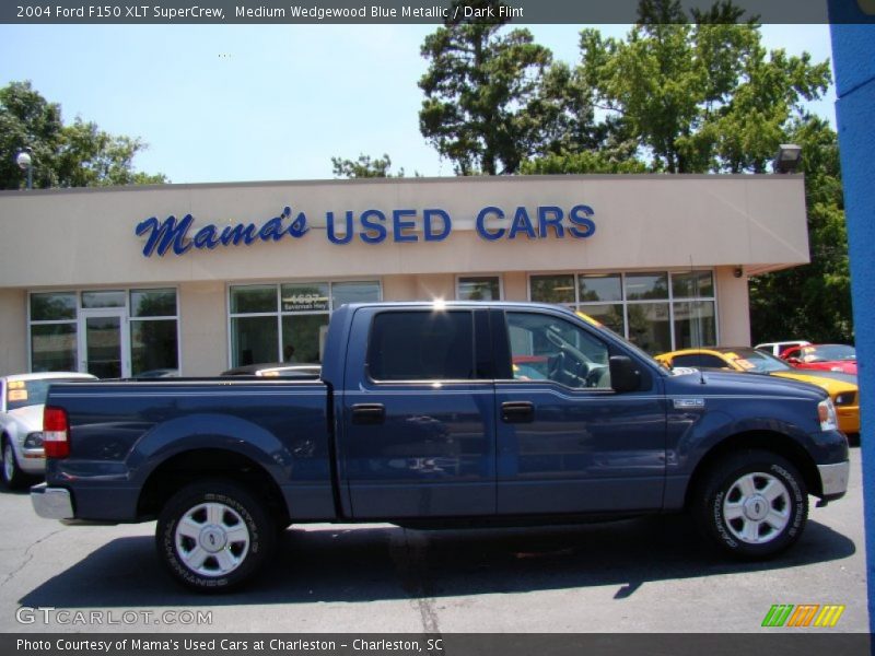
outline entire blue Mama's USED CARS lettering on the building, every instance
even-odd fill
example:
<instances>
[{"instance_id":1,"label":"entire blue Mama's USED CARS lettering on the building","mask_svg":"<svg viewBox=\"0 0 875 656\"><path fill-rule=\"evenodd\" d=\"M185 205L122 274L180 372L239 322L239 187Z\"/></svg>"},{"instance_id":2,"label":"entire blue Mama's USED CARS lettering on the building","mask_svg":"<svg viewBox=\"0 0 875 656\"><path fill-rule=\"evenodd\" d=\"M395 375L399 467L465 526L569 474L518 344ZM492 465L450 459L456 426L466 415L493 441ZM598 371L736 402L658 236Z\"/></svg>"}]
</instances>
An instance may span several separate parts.
<instances>
[{"instance_id":1,"label":"entire blue Mama's USED CARS lettering on the building","mask_svg":"<svg viewBox=\"0 0 875 656\"><path fill-rule=\"evenodd\" d=\"M585 239L595 234L595 212L590 206L575 204L569 209L557 206L500 208L488 206L477 212L475 230L488 242L557 238ZM194 249L213 250L219 246L248 246L256 242L301 239L311 233L304 212L283 208L278 216L262 223L208 224L195 229L195 218L167 216L159 221L151 216L137 225L136 233L145 238L143 255L185 255ZM365 244L442 242L453 232L453 218L445 210L429 208L420 211L364 210L325 213L325 236L332 244L349 244L360 239Z\"/></svg>"}]
</instances>

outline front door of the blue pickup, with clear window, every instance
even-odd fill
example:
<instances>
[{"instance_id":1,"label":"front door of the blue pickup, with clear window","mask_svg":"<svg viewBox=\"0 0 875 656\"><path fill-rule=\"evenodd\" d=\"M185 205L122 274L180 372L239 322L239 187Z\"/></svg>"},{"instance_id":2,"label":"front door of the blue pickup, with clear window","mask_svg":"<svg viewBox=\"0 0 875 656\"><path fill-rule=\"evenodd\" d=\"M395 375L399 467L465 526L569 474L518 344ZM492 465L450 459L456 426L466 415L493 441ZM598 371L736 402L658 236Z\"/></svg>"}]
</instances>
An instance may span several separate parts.
<instances>
[{"instance_id":1,"label":"front door of the blue pickup, with clear window","mask_svg":"<svg viewBox=\"0 0 875 656\"><path fill-rule=\"evenodd\" d=\"M499 514L662 507L666 412L653 376L639 391L614 391L616 344L561 313L495 311L501 323Z\"/></svg>"}]
</instances>

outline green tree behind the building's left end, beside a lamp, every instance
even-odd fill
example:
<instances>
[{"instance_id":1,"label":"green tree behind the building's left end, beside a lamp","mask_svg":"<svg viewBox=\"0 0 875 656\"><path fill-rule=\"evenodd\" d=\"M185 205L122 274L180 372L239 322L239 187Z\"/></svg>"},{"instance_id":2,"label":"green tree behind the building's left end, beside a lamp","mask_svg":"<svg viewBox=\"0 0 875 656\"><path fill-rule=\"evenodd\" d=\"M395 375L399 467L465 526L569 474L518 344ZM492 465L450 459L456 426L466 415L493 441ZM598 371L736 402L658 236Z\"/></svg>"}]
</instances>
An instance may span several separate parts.
<instances>
[{"instance_id":1,"label":"green tree behind the building's left end, beside a lamp","mask_svg":"<svg viewBox=\"0 0 875 656\"><path fill-rule=\"evenodd\" d=\"M166 183L162 174L133 171L133 157L145 148L139 139L117 137L77 118L65 126L61 108L30 82L0 89L0 187L20 189L25 174L15 164L19 149L33 152L35 188L94 187Z\"/></svg>"}]
</instances>

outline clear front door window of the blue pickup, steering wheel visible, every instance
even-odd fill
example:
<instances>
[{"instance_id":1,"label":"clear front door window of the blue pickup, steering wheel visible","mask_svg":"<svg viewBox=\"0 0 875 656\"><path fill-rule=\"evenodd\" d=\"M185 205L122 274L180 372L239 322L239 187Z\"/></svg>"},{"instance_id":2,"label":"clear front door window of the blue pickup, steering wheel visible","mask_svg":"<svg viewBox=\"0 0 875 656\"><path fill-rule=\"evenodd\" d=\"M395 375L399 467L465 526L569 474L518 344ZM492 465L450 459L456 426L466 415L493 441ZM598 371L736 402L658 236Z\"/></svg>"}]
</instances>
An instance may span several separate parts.
<instances>
[{"instance_id":1,"label":"clear front door window of the blue pickup, steering wheel visible","mask_svg":"<svg viewBox=\"0 0 875 656\"><path fill-rule=\"evenodd\" d=\"M513 312L506 316L515 379L610 389L608 348L602 340L557 317Z\"/></svg>"}]
</instances>

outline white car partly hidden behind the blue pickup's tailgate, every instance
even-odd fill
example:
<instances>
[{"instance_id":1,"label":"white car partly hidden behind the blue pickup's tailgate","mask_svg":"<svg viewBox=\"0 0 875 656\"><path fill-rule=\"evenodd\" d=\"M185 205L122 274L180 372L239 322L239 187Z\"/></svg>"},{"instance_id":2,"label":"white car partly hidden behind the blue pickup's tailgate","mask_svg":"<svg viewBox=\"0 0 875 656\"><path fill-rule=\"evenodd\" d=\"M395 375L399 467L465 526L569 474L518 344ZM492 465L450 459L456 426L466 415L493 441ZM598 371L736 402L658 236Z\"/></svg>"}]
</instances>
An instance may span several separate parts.
<instances>
[{"instance_id":1,"label":"white car partly hidden behind the blue pickup's tailgate","mask_svg":"<svg viewBox=\"0 0 875 656\"><path fill-rule=\"evenodd\" d=\"M21 488L28 476L46 469L43 405L51 383L96 380L91 374L54 372L0 377L0 449L7 488Z\"/></svg>"}]
</instances>

